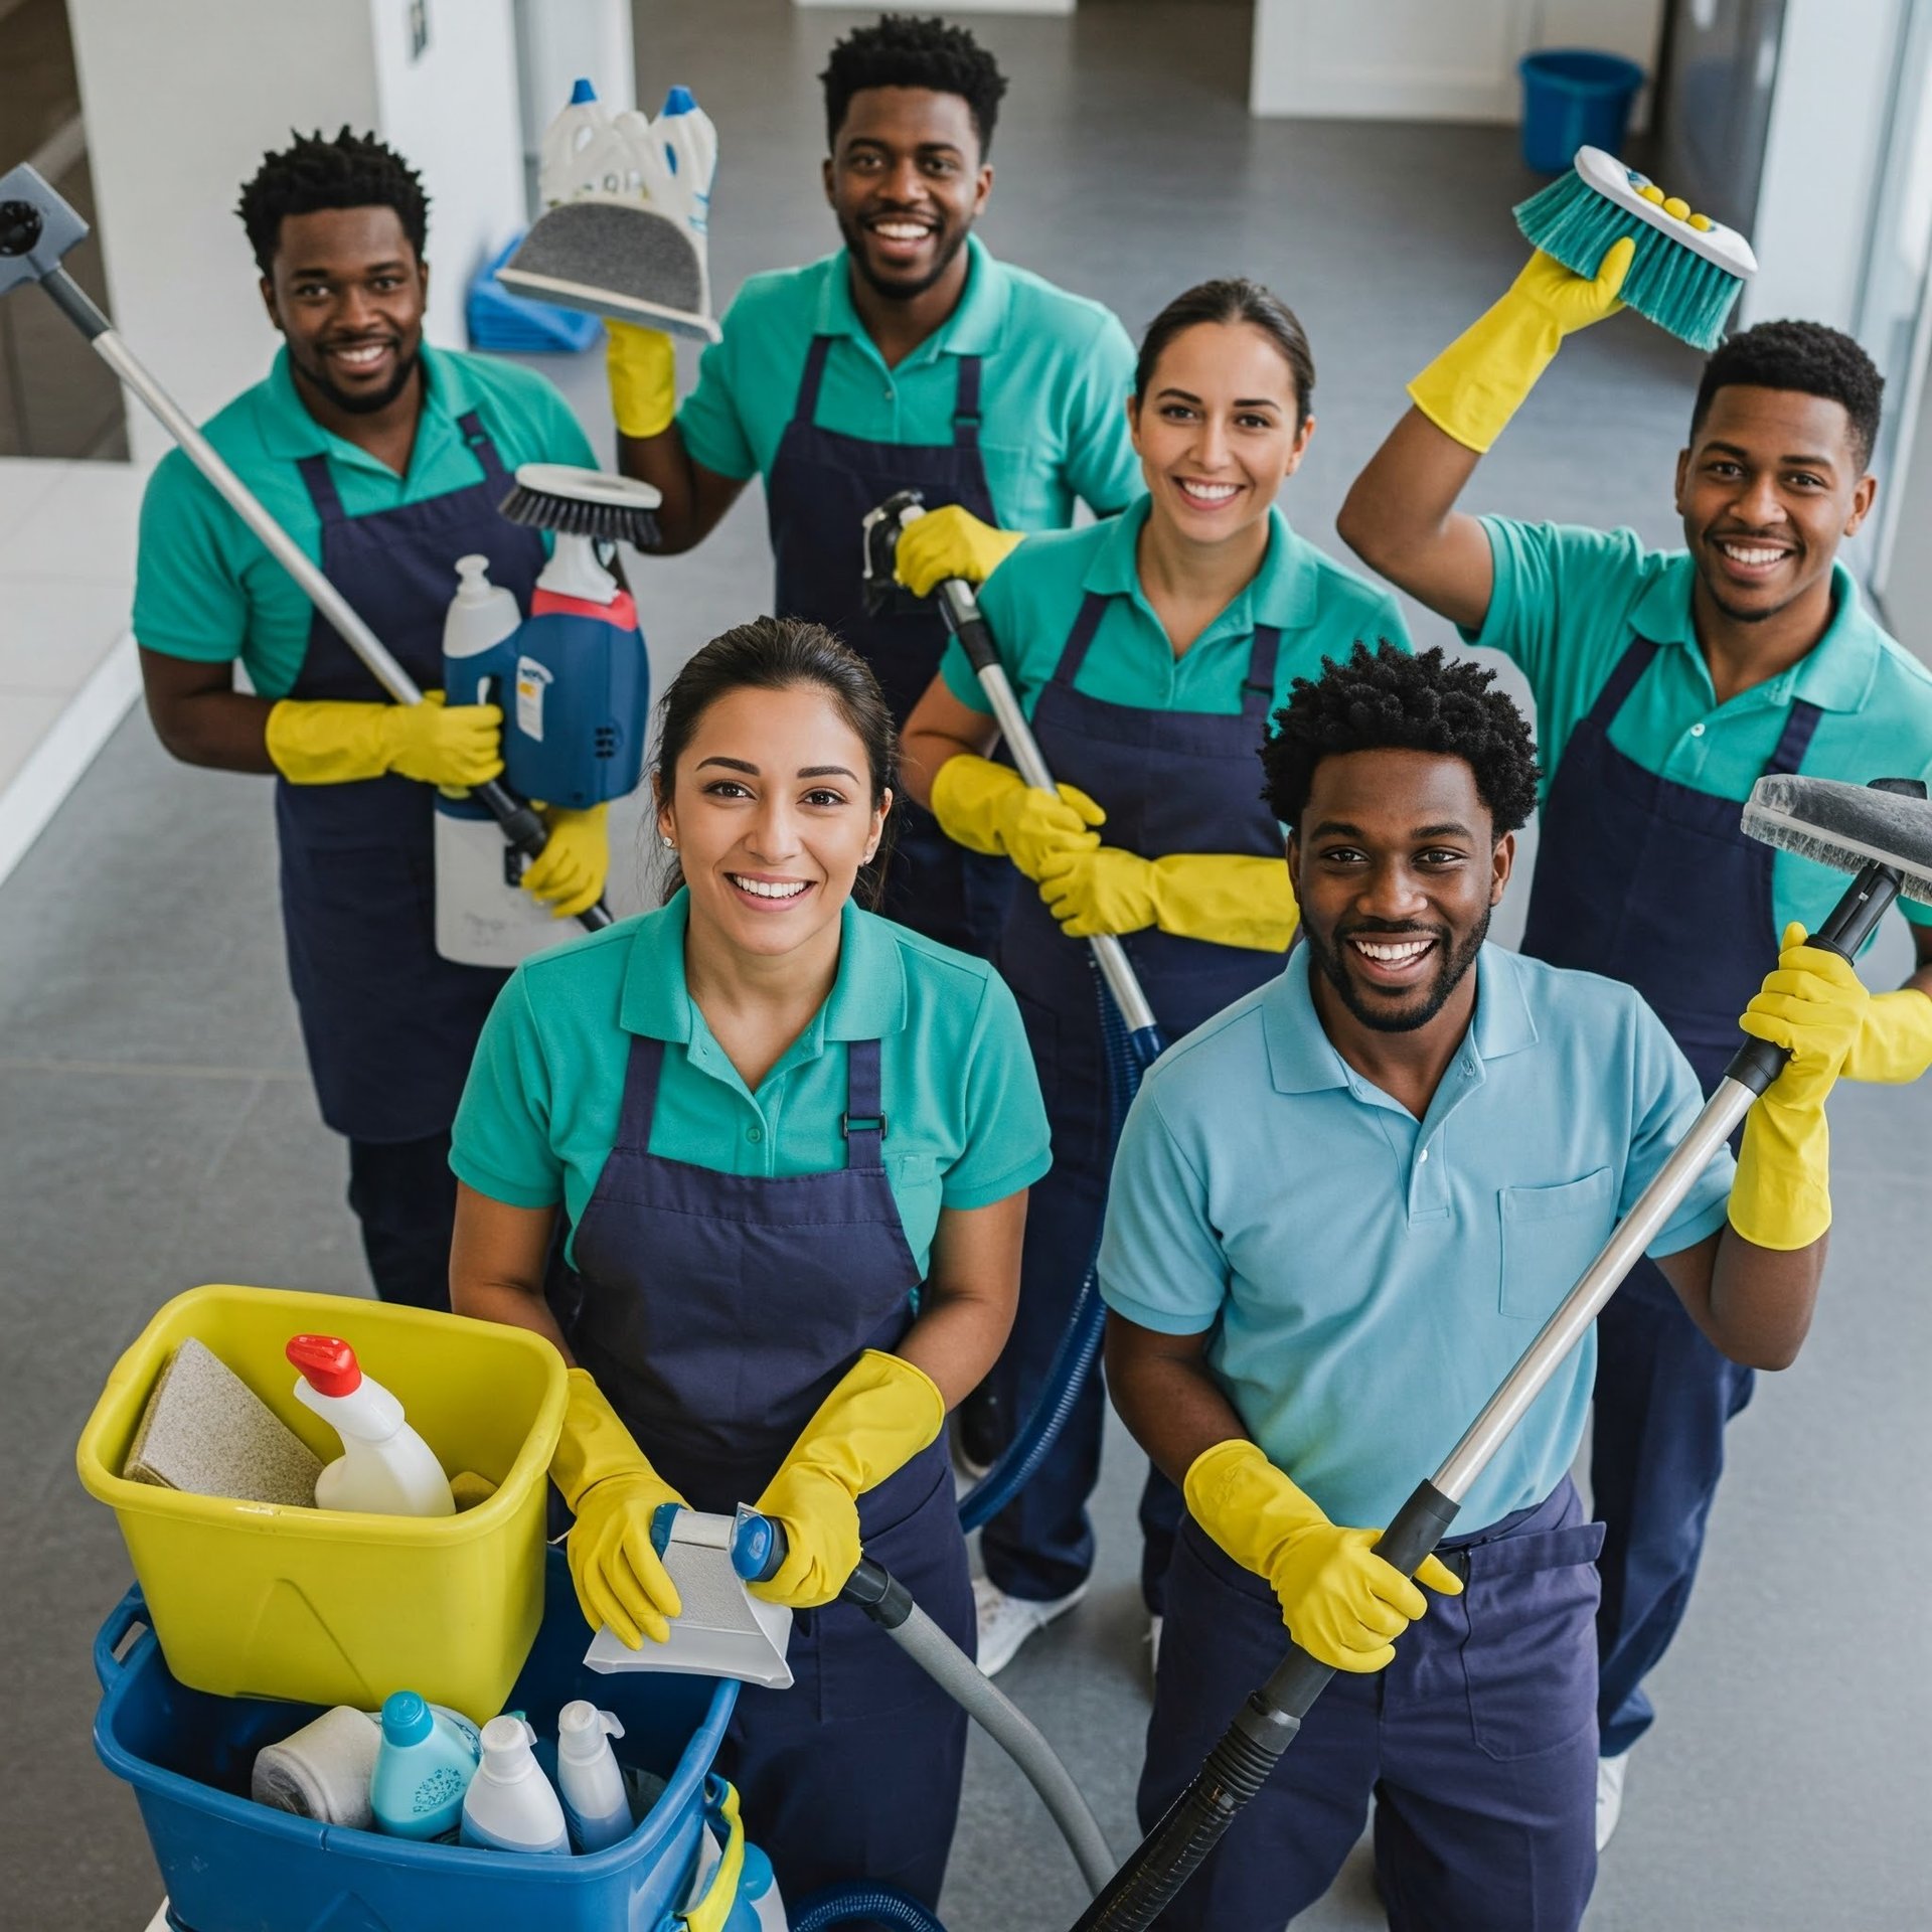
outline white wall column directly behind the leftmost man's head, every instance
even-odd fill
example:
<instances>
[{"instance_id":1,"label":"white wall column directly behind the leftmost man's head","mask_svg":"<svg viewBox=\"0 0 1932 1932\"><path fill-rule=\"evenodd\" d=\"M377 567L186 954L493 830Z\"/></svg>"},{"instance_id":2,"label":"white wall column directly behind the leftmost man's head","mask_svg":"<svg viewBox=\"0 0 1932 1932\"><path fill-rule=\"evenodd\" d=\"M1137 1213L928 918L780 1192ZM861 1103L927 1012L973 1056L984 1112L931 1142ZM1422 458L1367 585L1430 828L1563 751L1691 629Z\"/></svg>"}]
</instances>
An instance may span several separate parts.
<instances>
[{"instance_id":1,"label":"white wall column directly behind the leftmost man's head","mask_svg":"<svg viewBox=\"0 0 1932 1932\"><path fill-rule=\"evenodd\" d=\"M195 417L261 379L278 336L234 205L290 129L377 129L433 197L429 327L462 346L466 259L522 220L508 0L68 0L120 332ZM137 460L168 448L135 404Z\"/></svg>"}]
</instances>

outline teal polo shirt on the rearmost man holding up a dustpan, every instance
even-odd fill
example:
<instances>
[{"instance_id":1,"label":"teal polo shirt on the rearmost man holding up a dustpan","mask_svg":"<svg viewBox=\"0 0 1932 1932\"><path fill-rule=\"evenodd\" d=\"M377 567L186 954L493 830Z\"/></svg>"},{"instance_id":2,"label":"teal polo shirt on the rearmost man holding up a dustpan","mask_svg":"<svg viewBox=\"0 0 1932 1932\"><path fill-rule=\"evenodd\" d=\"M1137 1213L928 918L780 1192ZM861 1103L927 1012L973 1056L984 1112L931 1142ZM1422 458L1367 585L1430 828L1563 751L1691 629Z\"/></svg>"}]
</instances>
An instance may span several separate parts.
<instances>
[{"instance_id":1,"label":"teal polo shirt on the rearmost man holding up a dustpan","mask_svg":"<svg viewBox=\"0 0 1932 1932\"><path fill-rule=\"evenodd\" d=\"M684 448L719 475L769 477L811 338L831 336L817 423L867 442L951 444L958 357L983 357L980 458L1003 529L1061 529L1076 497L1101 516L1132 502L1140 462L1126 435L1126 330L1097 301L995 261L978 236L966 247L958 307L893 369L852 307L844 249L752 276L678 410Z\"/></svg>"}]
</instances>

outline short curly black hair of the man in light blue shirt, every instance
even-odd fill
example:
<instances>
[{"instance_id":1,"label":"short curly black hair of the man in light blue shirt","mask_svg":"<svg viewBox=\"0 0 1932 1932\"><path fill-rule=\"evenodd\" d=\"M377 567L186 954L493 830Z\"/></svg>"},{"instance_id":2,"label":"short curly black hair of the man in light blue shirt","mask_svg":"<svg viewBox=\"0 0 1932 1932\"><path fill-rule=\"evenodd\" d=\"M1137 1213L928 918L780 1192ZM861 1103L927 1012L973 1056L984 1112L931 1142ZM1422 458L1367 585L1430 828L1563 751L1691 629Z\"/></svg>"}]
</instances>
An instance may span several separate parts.
<instances>
[{"instance_id":1,"label":"short curly black hair of the man in light blue shirt","mask_svg":"<svg viewBox=\"0 0 1932 1932\"><path fill-rule=\"evenodd\" d=\"M1316 765L1341 752L1445 752L1476 773L1495 837L1536 810L1536 744L1495 672L1441 649L1358 643L1347 663L1321 659L1320 678L1296 678L1262 746L1262 798L1291 831L1308 810Z\"/></svg>"}]
</instances>

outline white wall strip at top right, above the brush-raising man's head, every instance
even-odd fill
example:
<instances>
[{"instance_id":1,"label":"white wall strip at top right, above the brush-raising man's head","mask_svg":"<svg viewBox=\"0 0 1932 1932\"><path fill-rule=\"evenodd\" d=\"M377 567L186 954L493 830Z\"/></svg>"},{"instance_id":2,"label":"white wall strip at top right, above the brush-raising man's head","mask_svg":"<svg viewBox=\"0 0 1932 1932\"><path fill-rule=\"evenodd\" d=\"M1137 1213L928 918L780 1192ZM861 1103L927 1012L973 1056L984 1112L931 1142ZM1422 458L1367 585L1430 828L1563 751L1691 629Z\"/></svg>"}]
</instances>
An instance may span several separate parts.
<instances>
[{"instance_id":1,"label":"white wall strip at top right, above the brush-raising man's head","mask_svg":"<svg viewBox=\"0 0 1932 1932\"><path fill-rule=\"evenodd\" d=\"M1901 0L1787 0L1737 327L1857 328L1899 23Z\"/></svg>"}]
</instances>

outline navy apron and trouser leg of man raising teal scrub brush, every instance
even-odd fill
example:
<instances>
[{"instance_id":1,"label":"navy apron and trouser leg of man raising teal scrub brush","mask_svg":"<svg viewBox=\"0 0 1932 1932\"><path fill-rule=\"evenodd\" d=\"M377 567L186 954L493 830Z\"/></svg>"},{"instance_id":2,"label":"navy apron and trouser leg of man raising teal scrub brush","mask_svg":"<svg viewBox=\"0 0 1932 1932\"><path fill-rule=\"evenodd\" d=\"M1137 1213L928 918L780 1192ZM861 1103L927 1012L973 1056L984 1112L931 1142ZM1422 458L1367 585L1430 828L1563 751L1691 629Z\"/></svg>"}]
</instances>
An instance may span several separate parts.
<instances>
[{"instance_id":1,"label":"navy apron and trouser leg of man raising teal scrub brush","mask_svg":"<svg viewBox=\"0 0 1932 1932\"><path fill-rule=\"evenodd\" d=\"M1776 962L1776 854L1745 837L1735 800L1646 771L1609 742L1656 655L1652 639L1634 638L1563 748L1522 951L1634 985L1708 1094L1741 1043L1737 1016ZM1818 719L1816 705L1791 705L1766 773L1799 771ZM1754 1378L1698 1333L1650 1262L1596 1327L1590 1488L1607 1526L1600 1718L1604 1756L1621 1756L1650 1725L1642 1681L1690 1600L1723 1426Z\"/></svg>"}]
</instances>

